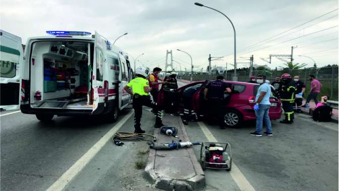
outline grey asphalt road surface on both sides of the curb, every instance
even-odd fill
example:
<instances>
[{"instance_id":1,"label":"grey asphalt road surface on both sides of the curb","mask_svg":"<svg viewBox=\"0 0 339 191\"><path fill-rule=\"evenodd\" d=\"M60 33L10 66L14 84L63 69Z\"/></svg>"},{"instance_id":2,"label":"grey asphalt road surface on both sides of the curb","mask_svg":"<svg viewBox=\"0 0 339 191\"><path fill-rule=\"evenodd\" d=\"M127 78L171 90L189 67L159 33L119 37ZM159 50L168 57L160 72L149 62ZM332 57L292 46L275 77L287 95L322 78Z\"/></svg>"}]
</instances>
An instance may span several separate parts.
<instances>
[{"instance_id":1,"label":"grey asphalt road surface on both sides of the curb","mask_svg":"<svg viewBox=\"0 0 339 191\"><path fill-rule=\"evenodd\" d=\"M183 85L184 83L180 83ZM133 109L126 109L116 123L102 118L55 117L42 123L20 112L1 116L1 190L45 190L59 181L79 159L87 157L112 129L133 131ZM152 132L154 116L145 108L142 128ZM126 122L124 116L130 115ZM119 126L120 125L120 126ZM211 134L206 134L201 126ZM119 128L117 127L119 126ZM338 124L316 123L299 114L292 125L272 122L273 137L254 137L254 123L219 129L205 122L191 122L186 130L192 141L228 141L234 164L256 190L337 190ZM95 149L95 148L94 148ZM195 154L199 156L198 148ZM145 142L110 140L97 148L82 169L66 182L65 190L157 190L142 178L136 162L145 162ZM240 190L235 171L209 170L205 190ZM72 174L72 173L71 173ZM240 179L241 180L241 179Z\"/></svg>"}]
</instances>

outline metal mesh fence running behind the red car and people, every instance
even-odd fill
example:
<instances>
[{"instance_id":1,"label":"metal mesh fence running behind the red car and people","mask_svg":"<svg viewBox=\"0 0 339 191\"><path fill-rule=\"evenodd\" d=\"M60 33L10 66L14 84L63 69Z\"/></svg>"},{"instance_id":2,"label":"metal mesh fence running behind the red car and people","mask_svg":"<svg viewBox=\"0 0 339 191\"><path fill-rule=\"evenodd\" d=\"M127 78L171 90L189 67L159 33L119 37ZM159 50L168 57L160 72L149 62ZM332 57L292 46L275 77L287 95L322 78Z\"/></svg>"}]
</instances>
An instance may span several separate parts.
<instances>
[{"instance_id":1,"label":"metal mesh fence running behind the red car and people","mask_svg":"<svg viewBox=\"0 0 339 191\"><path fill-rule=\"evenodd\" d=\"M267 79L270 82L275 80L275 76L281 76L283 73L290 73L291 76L299 75L301 81L306 83L306 96L310 90L311 82L307 81L308 75L314 75L316 78L321 82L321 92L318 95L318 99L320 99L321 95L328 95L330 100L338 101L338 66L330 66L330 67L323 67L323 68L304 68L299 70L292 70L283 69L283 70L253 70L253 75L257 76L259 74L266 75ZM190 73L182 73L180 76L182 79L190 80ZM232 76L234 73L223 73L223 74L208 74L206 72L195 72L193 75L193 81L200 81L200 80L214 80L216 76L223 75L225 79L228 81L232 80ZM237 71L237 76L239 81L249 81L250 78L250 71L249 69L246 71Z\"/></svg>"}]
</instances>

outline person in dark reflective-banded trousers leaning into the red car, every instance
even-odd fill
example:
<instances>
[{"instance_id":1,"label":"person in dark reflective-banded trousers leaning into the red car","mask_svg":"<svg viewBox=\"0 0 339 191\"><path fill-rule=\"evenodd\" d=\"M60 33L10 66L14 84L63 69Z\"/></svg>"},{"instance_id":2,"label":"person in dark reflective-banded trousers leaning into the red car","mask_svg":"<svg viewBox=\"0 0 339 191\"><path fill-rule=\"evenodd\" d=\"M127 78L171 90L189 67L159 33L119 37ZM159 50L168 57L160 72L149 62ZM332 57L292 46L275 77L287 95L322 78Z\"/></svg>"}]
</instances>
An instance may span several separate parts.
<instances>
[{"instance_id":1,"label":"person in dark reflective-banded trousers leaning into the red car","mask_svg":"<svg viewBox=\"0 0 339 191\"><path fill-rule=\"evenodd\" d=\"M185 89L182 98L183 98L183 104L184 104L184 116L183 118L183 123L185 125L188 125L188 121L190 120L197 120L197 115L193 110L193 105L192 105L192 98L194 93L199 89L199 86L193 85L188 89Z\"/></svg>"}]
</instances>

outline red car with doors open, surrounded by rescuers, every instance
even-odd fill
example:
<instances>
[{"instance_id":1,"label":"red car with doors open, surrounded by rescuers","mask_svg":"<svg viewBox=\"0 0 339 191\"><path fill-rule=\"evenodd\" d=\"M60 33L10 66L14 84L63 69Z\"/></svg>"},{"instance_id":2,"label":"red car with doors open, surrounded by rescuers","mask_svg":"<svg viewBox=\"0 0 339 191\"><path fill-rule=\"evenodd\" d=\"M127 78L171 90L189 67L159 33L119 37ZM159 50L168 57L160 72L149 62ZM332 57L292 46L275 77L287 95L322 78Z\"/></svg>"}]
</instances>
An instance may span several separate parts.
<instances>
[{"instance_id":1,"label":"red car with doors open, surrounded by rescuers","mask_svg":"<svg viewBox=\"0 0 339 191\"><path fill-rule=\"evenodd\" d=\"M177 94L179 97L178 111L182 112L184 106L182 104L181 95L182 93L192 87L198 88L193 95L192 104L194 111L198 116L207 116L206 109L203 109L203 91L208 83L211 81L196 81L185 86L178 88ZM224 110L224 123L227 126L236 127L239 126L243 121L255 120L256 116L253 110L255 104L255 95L258 91L259 84L238 82L238 81L224 81L228 83L232 88L230 94L229 103L225 106ZM281 117L281 102L276 97L275 91L272 89L271 98L269 99L271 107L269 109L269 117L271 120L276 120ZM158 104L163 103L163 95L160 93Z\"/></svg>"}]
</instances>

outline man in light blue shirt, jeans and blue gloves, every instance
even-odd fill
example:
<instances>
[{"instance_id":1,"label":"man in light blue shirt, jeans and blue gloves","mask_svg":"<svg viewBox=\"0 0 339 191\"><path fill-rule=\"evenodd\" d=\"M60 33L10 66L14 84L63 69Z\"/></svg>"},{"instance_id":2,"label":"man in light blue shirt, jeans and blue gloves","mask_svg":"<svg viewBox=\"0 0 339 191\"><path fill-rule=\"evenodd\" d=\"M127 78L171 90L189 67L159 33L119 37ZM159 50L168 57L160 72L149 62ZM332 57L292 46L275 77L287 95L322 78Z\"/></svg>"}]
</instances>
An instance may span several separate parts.
<instances>
[{"instance_id":1,"label":"man in light blue shirt, jeans and blue gloves","mask_svg":"<svg viewBox=\"0 0 339 191\"><path fill-rule=\"evenodd\" d=\"M266 76L258 75L257 83L260 84L256 97L254 112L257 117L255 131L250 133L253 136L261 136L262 131L262 121L265 120L266 132L264 134L268 136L273 136L271 129L271 121L268 116L268 111L270 107L269 97L271 96L271 87L269 84L265 83Z\"/></svg>"}]
</instances>

